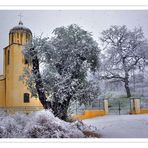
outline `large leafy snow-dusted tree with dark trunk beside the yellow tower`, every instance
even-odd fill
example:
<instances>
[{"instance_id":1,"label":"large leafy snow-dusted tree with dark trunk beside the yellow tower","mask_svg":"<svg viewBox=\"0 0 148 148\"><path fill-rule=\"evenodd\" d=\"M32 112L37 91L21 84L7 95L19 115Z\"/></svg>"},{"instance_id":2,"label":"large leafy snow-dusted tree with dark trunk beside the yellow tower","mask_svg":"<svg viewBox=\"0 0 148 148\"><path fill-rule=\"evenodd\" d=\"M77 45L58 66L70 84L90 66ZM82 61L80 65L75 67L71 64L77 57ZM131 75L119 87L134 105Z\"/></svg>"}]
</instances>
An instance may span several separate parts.
<instances>
[{"instance_id":1,"label":"large leafy snow-dusted tree with dark trunk beside the yellow tower","mask_svg":"<svg viewBox=\"0 0 148 148\"><path fill-rule=\"evenodd\" d=\"M98 85L88 73L98 70L100 51L91 34L77 25L59 27L53 33L51 39L33 38L23 50L32 65L23 79L45 109L65 120L70 101L85 103L97 97Z\"/></svg>"}]
</instances>

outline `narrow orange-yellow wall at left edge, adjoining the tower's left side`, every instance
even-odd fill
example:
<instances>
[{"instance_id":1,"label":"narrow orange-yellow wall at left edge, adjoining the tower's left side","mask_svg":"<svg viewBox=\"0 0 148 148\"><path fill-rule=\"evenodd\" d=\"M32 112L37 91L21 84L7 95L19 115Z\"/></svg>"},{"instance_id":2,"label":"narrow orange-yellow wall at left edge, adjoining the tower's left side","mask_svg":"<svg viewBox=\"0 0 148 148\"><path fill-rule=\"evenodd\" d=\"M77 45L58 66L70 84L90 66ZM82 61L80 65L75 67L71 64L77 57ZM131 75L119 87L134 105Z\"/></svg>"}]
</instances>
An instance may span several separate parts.
<instances>
[{"instance_id":1,"label":"narrow orange-yellow wall at left edge, adjoining the tower's left side","mask_svg":"<svg viewBox=\"0 0 148 148\"><path fill-rule=\"evenodd\" d=\"M5 79L0 78L0 107L5 107Z\"/></svg>"}]
</instances>

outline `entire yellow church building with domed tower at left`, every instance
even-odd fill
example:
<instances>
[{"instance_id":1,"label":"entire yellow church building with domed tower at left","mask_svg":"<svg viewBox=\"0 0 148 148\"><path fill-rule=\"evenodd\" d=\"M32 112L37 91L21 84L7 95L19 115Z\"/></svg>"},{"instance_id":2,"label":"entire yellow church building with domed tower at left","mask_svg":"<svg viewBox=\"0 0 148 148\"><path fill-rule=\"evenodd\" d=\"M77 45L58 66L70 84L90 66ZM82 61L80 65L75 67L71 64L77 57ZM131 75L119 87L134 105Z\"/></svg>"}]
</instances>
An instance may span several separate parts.
<instances>
[{"instance_id":1,"label":"entire yellow church building with domed tower at left","mask_svg":"<svg viewBox=\"0 0 148 148\"><path fill-rule=\"evenodd\" d=\"M42 106L38 99L31 98L27 86L19 80L28 66L22 49L31 38L31 30L22 21L9 32L9 45L4 48L4 74L0 76L0 107L28 111Z\"/></svg>"}]
</instances>

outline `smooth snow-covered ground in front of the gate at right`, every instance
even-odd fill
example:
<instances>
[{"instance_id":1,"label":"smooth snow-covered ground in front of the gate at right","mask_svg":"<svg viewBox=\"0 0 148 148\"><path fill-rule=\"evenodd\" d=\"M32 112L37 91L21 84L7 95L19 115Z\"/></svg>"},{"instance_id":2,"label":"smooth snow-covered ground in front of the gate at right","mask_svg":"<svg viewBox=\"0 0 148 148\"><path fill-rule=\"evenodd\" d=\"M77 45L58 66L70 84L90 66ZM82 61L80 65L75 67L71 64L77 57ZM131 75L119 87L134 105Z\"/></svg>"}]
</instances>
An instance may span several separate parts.
<instances>
[{"instance_id":1,"label":"smooth snow-covered ground in front of the gate at right","mask_svg":"<svg viewBox=\"0 0 148 148\"><path fill-rule=\"evenodd\" d=\"M102 138L148 138L148 114L108 115L83 121L96 126Z\"/></svg>"}]
</instances>

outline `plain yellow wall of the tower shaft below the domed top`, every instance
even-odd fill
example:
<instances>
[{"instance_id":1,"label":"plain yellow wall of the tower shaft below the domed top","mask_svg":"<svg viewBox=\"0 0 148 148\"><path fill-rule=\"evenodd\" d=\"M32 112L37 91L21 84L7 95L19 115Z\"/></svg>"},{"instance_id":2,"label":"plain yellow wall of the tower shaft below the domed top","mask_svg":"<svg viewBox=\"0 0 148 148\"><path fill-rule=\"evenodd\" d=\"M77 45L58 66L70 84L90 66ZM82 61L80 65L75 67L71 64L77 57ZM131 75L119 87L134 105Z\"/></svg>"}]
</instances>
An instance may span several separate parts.
<instances>
[{"instance_id":1,"label":"plain yellow wall of the tower shaft below the domed top","mask_svg":"<svg viewBox=\"0 0 148 148\"><path fill-rule=\"evenodd\" d=\"M18 44L12 44L5 48L6 106L41 106L39 100L35 98L31 98L29 103L24 103L24 93L29 93L29 91L27 86L19 80L24 67L28 66L24 64L22 48L23 46ZM9 64L8 50L10 51Z\"/></svg>"}]
</instances>

